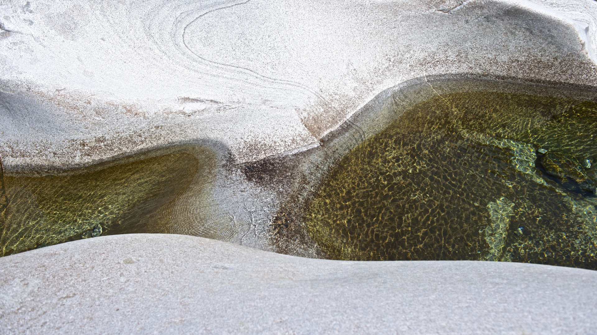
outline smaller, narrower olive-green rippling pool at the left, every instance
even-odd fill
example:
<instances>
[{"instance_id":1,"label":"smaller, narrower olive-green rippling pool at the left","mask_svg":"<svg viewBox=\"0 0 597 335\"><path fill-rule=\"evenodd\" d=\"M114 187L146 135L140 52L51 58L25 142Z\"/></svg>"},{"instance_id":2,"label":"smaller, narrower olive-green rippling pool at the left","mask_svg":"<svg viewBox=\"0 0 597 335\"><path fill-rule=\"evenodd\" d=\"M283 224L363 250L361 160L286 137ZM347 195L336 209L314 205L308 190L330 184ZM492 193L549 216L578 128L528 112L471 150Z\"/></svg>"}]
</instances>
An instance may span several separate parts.
<instances>
[{"instance_id":1,"label":"smaller, narrower olive-green rippling pool at the left","mask_svg":"<svg viewBox=\"0 0 597 335\"><path fill-rule=\"evenodd\" d=\"M0 176L2 256L99 235L170 232L171 205L206 166L189 153L62 175Z\"/></svg>"}]
</instances>

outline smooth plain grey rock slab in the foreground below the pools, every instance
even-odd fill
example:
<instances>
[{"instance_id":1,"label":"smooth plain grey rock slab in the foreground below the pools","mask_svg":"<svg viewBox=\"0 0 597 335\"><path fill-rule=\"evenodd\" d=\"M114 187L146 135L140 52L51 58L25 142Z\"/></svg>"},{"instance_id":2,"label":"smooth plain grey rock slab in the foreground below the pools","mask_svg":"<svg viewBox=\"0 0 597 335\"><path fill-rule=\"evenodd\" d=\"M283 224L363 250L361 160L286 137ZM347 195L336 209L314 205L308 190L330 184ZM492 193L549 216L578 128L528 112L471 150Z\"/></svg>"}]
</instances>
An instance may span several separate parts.
<instances>
[{"instance_id":1,"label":"smooth plain grey rock slab in the foreground below the pools","mask_svg":"<svg viewBox=\"0 0 597 335\"><path fill-rule=\"evenodd\" d=\"M597 272L96 237L0 259L2 334L594 334Z\"/></svg>"}]
</instances>

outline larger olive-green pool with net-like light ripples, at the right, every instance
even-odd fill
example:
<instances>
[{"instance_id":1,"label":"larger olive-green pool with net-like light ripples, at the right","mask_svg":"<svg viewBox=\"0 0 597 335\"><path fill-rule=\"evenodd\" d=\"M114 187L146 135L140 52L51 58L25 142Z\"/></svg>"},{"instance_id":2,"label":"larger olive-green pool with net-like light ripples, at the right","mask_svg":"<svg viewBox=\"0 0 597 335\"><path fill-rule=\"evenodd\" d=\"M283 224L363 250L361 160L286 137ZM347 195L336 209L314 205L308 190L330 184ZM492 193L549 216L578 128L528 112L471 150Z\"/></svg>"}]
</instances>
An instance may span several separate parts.
<instances>
[{"instance_id":1,"label":"larger olive-green pool with net-like light ripples, at the right","mask_svg":"<svg viewBox=\"0 0 597 335\"><path fill-rule=\"evenodd\" d=\"M341 159L307 231L333 259L597 269L596 139L595 103L442 95Z\"/></svg>"}]
</instances>

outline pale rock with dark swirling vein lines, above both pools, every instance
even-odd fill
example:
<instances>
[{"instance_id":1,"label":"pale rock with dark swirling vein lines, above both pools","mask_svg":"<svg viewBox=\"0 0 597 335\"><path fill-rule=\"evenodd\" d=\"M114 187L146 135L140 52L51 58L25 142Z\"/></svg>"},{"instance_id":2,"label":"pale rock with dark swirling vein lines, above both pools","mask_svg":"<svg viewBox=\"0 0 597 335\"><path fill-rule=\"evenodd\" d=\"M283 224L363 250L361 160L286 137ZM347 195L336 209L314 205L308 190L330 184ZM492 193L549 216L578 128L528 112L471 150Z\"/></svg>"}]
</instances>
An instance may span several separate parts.
<instances>
[{"instance_id":1,"label":"pale rock with dark swirling vein lines, above both pools","mask_svg":"<svg viewBox=\"0 0 597 335\"><path fill-rule=\"evenodd\" d=\"M416 77L594 86L596 11L590 0L4 1L0 155L10 172L201 140L250 162L316 145Z\"/></svg>"}]
</instances>

